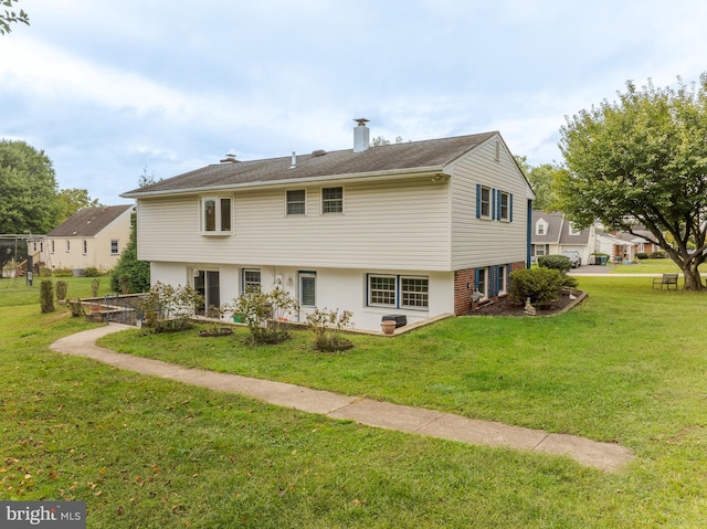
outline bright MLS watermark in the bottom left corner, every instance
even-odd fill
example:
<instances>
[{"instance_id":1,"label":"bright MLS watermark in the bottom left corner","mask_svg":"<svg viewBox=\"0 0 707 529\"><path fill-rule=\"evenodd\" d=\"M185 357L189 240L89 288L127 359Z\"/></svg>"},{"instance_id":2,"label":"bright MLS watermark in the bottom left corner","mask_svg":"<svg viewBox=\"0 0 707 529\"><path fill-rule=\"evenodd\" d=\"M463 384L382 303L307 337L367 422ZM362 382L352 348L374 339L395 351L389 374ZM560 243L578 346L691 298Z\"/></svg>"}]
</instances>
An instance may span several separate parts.
<instances>
[{"instance_id":1,"label":"bright MLS watermark in the bottom left corner","mask_svg":"<svg viewBox=\"0 0 707 529\"><path fill-rule=\"evenodd\" d=\"M2 529L86 529L85 501L0 501Z\"/></svg>"}]
</instances>

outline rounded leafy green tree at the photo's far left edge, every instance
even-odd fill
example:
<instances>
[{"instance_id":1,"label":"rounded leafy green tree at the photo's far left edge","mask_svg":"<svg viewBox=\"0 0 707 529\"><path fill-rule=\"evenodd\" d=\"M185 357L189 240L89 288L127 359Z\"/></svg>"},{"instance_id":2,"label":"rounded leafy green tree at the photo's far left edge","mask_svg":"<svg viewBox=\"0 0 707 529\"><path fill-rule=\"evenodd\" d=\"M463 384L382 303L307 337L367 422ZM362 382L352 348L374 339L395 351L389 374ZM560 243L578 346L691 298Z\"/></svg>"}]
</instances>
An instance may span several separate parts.
<instances>
[{"instance_id":1,"label":"rounded leafy green tree at the photo's far left edge","mask_svg":"<svg viewBox=\"0 0 707 529\"><path fill-rule=\"evenodd\" d=\"M0 233L46 233L60 202L52 161L24 141L0 141Z\"/></svg>"}]
</instances>

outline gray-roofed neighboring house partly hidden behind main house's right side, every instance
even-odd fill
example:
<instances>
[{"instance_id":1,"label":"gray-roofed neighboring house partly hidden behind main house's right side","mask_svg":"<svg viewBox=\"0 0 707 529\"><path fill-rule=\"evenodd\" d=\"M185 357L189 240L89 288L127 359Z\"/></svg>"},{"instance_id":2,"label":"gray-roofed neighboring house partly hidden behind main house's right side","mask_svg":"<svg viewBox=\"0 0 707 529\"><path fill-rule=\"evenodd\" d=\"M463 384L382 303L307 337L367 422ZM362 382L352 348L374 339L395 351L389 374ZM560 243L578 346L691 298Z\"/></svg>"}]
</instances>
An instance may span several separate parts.
<instances>
[{"instance_id":1,"label":"gray-roofed neighboring house partly hidden behind main house's right side","mask_svg":"<svg viewBox=\"0 0 707 529\"><path fill-rule=\"evenodd\" d=\"M591 263L595 248L594 226L576 230L564 213L532 212L530 255L536 261L541 255L561 255L562 252L579 252L582 264Z\"/></svg>"}]
</instances>

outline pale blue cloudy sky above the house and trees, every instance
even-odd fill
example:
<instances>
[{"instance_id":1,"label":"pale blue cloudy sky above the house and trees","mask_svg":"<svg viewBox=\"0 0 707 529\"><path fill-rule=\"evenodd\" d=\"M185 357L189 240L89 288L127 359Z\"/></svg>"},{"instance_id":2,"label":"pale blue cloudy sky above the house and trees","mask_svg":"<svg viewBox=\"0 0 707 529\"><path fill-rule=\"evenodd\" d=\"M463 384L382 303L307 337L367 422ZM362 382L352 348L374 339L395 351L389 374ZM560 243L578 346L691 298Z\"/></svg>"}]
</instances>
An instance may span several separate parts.
<instances>
[{"instance_id":1,"label":"pale blue cloudy sky above the house and trees","mask_svg":"<svg viewBox=\"0 0 707 529\"><path fill-rule=\"evenodd\" d=\"M126 203L156 178L371 137L499 130L561 161L564 116L625 82L707 71L701 0L20 0L0 36L0 138L61 189Z\"/></svg>"}]
</instances>

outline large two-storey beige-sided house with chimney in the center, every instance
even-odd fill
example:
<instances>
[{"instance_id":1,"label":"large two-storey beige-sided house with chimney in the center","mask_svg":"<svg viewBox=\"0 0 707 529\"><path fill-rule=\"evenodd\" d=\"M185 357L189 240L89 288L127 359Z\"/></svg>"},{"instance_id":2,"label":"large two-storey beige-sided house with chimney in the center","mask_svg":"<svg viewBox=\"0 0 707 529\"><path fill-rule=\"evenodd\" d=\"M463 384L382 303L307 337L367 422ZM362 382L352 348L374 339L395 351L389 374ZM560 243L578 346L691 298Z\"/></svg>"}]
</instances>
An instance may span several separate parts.
<instances>
[{"instance_id":1,"label":"large two-storey beige-sided house with chimney in the center","mask_svg":"<svg viewBox=\"0 0 707 529\"><path fill-rule=\"evenodd\" d=\"M504 295L529 262L530 186L498 133L266 160L226 158L123 194L138 202L138 257L152 283L219 306L249 288L408 322ZM475 295L476 293L476 295Z\"/></svg>"}]
</instances>

